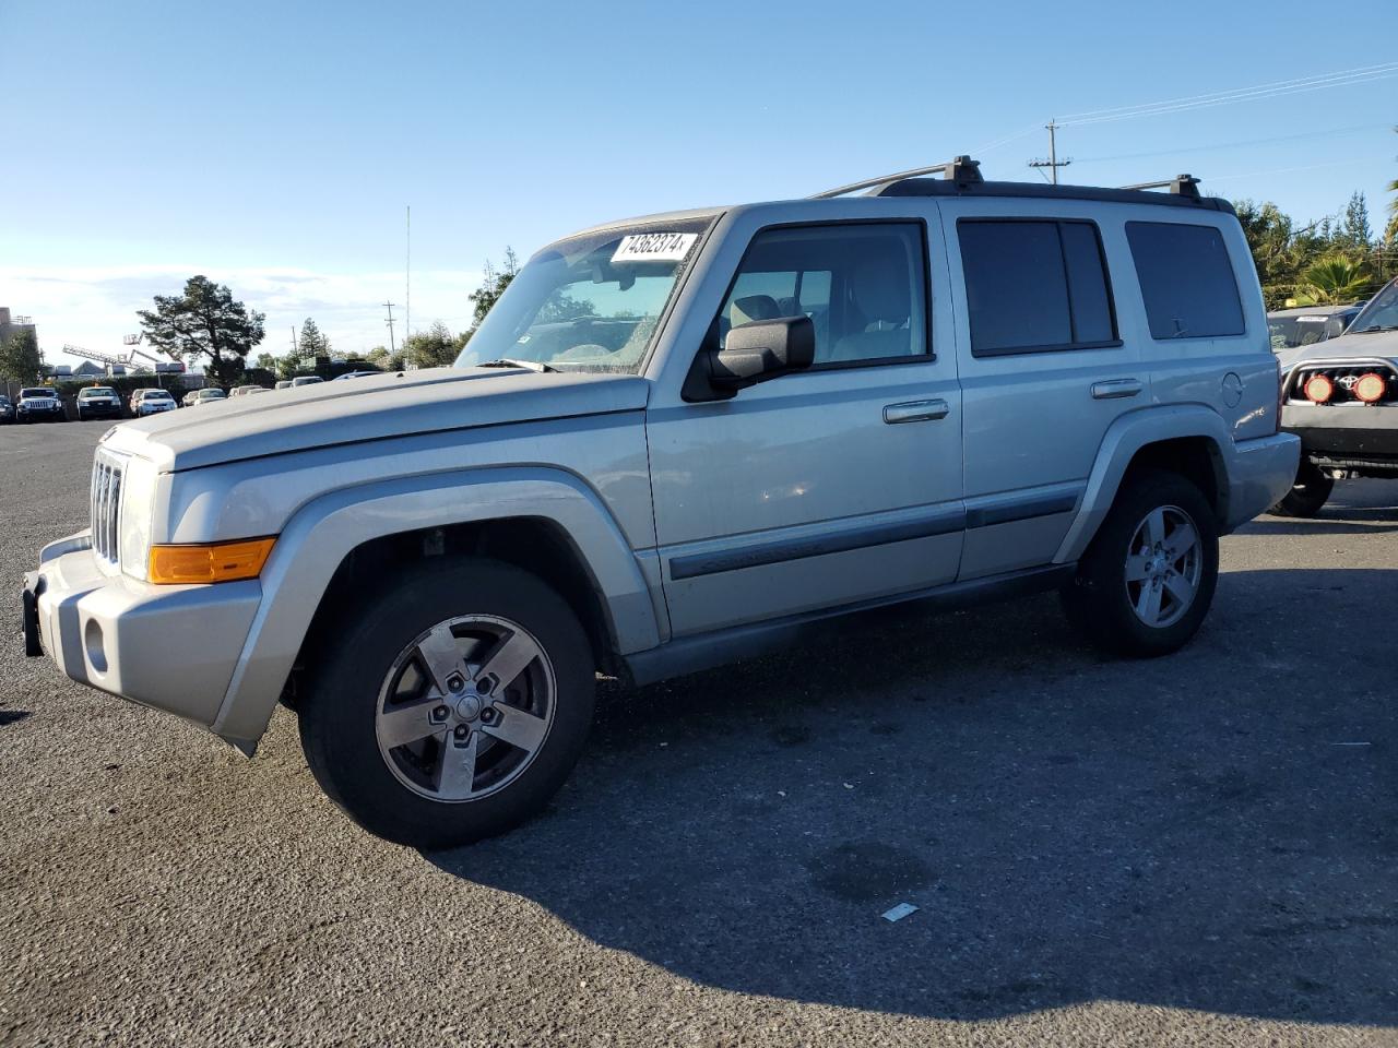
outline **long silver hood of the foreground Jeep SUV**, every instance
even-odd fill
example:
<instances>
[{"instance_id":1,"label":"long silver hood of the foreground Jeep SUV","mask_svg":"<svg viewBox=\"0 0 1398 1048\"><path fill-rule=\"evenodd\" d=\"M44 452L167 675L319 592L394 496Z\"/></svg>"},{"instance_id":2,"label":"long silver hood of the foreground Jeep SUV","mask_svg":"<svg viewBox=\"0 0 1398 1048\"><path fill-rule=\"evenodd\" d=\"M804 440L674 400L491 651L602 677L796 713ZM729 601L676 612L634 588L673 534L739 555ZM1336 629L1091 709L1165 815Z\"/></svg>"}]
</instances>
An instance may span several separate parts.
<instances>
[{"instance_id":1,"label":"long silver hood of the foreground Jeep SUV","mask_svg":"<svg viewBox=\"0 0 1398 1048\"><path fill-rule=\"evenodd\" d=\"M231 397L124 422L102 440L162 471L197 470L331 444L639 411L649 390L635 374L431 367Z\"/></svg>"}]
</instances>

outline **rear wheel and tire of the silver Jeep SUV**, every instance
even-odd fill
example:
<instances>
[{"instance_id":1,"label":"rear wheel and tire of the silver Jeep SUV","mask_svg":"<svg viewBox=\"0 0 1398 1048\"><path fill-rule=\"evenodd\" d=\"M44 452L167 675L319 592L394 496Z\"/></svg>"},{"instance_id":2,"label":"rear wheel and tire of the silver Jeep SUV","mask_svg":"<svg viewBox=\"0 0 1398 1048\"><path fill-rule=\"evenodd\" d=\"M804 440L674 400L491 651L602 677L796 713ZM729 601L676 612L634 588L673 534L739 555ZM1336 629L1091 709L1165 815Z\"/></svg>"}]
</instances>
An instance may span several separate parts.
<instances>
[{"instance_id":1,"label":"rear wheel and tire of the silver Jeep SUV","mask_svg":"<svg viewBox=\"0 0 1398 1048\"><path fill-rule=\"evenodd\" d=\"M1141 471L1078 562L1064 611L1106 654L1167 655L1198 632L1218 570L1218 523L1202 492L1179 474Z\"/></svg>"}]
</instances>

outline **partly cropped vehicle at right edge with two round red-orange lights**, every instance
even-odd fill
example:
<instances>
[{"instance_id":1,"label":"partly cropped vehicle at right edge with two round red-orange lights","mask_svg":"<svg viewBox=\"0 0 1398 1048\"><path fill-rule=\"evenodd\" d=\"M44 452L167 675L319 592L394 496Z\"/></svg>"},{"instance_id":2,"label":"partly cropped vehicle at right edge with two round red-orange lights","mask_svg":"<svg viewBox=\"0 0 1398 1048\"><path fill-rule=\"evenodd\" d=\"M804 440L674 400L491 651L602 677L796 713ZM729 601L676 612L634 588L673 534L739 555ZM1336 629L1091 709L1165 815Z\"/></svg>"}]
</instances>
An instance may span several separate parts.
<instances>
[{"instance_id":1,"label":"partly cropped vehicle at right edge with two round red-orange lights","mask_svg":"<svg viewBox=\"0 0 1398 1048\"><path fill-rule=\"evenodd\" d=\"M1314 517L1335 481L1398 479L1398 278L1345 334L1286 351L1282 428L1302 440L1296 482L1274 511Z\"/></svg>"}]
</instances>

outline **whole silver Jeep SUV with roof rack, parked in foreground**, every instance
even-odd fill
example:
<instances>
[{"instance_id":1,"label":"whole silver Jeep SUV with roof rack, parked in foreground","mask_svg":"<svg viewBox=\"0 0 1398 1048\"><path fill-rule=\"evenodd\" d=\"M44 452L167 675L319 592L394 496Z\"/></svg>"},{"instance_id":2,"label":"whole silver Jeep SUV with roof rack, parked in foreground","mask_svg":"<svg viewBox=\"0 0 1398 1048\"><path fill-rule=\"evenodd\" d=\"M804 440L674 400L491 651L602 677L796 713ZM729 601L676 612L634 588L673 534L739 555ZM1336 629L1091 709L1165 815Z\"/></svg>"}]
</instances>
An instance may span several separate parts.
<instances>
[{"instance_id":1,"label":"whole silver Jeep SUV with roof rack, parked in foreground","mask_svg":"<svg viewBox=\"0 0 1398 1048\"><path fill-rule=\"evenodd\" d=\"M958 158L558 240L453 367L116 426L28 650L249 755L287 701L330 796L419 847L537 812L598 669L1050 588L1174 651L1299 442L1232 208L1158 187Z\"/></svg>"}]
</instances>

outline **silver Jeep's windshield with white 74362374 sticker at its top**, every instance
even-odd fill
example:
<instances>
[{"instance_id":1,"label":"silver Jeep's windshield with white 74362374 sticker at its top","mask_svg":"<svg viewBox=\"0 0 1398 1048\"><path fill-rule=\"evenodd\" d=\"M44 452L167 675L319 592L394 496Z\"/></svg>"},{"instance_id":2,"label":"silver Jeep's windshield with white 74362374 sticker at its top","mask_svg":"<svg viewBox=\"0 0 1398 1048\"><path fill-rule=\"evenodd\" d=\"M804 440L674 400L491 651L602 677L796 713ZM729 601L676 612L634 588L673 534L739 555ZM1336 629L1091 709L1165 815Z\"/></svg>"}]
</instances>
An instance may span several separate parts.
<instances>
[{"instance_id":1,"label":"silver Jeep's windshield with white 74362374 sticker at its top","mask_svg":"<svg viewBox=\"0 0 1398 1048\"><path fill-rule=\"evenodd\" d=\"M456 366L514 359L635 374L710 221L612 228L549 245L516 274Z\"/></svg>"}]
</instances>

